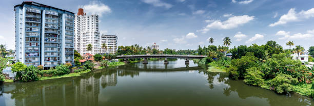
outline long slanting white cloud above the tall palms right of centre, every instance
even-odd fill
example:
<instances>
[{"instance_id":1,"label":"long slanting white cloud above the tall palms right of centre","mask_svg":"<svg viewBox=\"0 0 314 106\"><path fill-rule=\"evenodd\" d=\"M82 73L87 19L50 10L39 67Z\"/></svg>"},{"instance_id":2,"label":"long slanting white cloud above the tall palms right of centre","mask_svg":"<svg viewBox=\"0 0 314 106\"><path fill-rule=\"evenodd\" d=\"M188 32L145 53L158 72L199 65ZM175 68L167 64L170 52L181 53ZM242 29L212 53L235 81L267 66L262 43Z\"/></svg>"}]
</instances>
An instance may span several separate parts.
<instances>
[{"instance_id":1,"label":"long slanting white cloud above the tall palms right of centre","mask_svg":"<svg viewBox=\"0 0 314 106\"><path fill-rule=\"evenodd\" d=\"M239 25L243 25L254 19L254 16L242 15L242 16L233 16L229 17L228 20L221 21L215 20L208 24L205 28L198 30L197 32L206 33L210 29L232 29L237 28Z\"/></svg>"}]
</instances>

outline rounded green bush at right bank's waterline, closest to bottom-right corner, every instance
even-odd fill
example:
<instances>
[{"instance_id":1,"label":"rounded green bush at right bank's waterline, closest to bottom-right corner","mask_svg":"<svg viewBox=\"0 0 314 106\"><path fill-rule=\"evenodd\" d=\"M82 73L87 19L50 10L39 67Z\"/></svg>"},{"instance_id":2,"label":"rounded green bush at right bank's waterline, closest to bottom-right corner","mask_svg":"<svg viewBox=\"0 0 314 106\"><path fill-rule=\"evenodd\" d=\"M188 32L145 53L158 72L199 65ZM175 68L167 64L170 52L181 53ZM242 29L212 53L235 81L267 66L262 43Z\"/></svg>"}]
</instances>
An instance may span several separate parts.
<instances>
[{"instance_id":1,"label":"rounded green bush at right bank's waterline, closest to bottom-right corner","mask_svg":"<svg viewBox=\"0 0 314 106\"><path fill-rule=\"evenodd\" d=\"M293 91L292 85L297 84L298 80L291 75L280 73L268 83L277 93L290 93Z\"/></svg>"}]
</instances>

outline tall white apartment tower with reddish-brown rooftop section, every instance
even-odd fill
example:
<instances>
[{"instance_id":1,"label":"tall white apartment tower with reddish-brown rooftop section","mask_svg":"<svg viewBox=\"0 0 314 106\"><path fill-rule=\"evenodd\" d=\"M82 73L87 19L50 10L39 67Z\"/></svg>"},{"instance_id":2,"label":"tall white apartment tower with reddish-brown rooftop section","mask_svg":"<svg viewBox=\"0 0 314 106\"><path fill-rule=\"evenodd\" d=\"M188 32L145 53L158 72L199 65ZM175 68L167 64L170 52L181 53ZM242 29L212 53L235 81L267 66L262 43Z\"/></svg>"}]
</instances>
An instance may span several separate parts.
<instances>
[{"instance_id":1,"label":"tall white apartment tower with reddish-brown rooftop section","mask_svg":"<svg viewBox=\"0 0 314 106\"><path fill-rule=\"evenodd\" d=\"M86 15L83 9L78 9L74 19L74 49L81 55L88 53L88 44L92 44L92 55L100 54L100 33L98 15Z\"/></svg>"}]
</instances>

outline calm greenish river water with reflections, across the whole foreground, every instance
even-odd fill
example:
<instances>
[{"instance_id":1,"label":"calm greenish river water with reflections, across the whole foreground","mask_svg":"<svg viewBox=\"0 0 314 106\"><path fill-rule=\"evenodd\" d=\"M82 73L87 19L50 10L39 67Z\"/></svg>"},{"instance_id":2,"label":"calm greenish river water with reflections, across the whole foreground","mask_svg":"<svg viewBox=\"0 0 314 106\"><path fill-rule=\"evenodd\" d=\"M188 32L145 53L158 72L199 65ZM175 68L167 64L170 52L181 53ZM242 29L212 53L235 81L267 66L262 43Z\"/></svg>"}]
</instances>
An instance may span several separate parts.
<instances>
[{"instance_id":1,"label":"calm greenish river water with reflections, across the whole foreground","mask_svg":"<svg viewBox=\"0 0 314 106\"><path fill-rule=\"evenodd\" d=\"M4 83L0 105L314 105L298 94L229 80L185 60L127 64L82 76Z\"/></svg>"}]
</instances>

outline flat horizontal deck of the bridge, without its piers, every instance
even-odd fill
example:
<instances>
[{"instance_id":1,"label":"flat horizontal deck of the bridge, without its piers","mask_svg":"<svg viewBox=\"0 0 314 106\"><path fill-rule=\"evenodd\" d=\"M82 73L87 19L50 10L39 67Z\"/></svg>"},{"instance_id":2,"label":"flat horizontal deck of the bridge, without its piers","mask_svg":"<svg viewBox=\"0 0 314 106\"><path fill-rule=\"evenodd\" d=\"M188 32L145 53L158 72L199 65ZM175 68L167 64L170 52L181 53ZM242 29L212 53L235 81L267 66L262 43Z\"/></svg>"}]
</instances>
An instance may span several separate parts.
<instances>
[{"instance_id":1,"label":"flat horizontal deck of the bridge, without its piers","mask_svg":"<svg viewBox=\"0 0 314 106\"><path fill-rule=\"evenodd\" d=\"M202 59L207 56L198 55L126 55L116 56L117 59L134 59L134 58L184 58L184 59Z\"/></svg>"}]
</instances>

